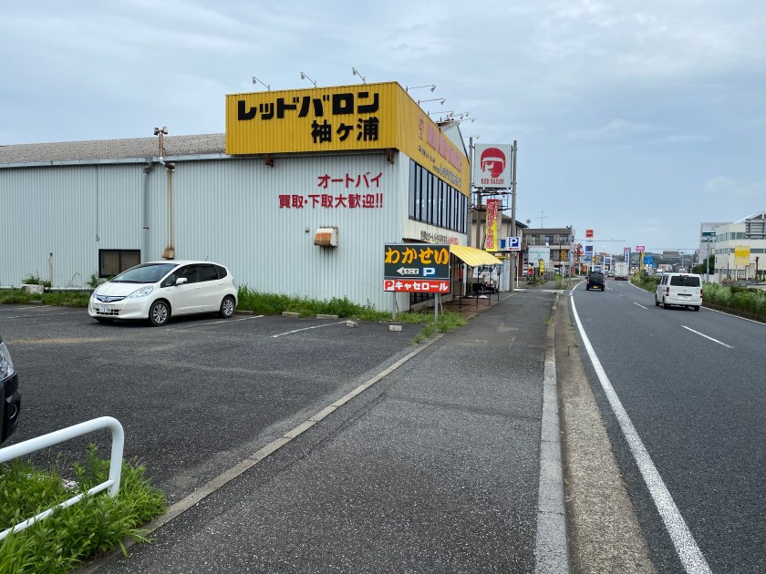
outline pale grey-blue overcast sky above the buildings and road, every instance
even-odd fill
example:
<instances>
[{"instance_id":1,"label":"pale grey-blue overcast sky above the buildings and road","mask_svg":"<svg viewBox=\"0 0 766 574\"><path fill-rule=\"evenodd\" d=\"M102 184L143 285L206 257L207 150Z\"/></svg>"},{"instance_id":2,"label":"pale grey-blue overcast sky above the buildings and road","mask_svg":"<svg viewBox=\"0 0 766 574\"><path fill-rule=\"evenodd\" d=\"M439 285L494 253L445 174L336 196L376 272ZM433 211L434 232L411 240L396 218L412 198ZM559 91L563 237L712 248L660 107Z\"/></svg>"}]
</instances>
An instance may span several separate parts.
<instances>
[{"instance_id":1,"label":"pale grey-blue overcast sky above the buildings and road","mask_svg":"<svg viewBox=\"0 0 766 574\"><path fill-rule=\"evenodd\" d=\"M516 217L596 251L766 210L766 3L7 3L0 144L220 133L226 94L398 81L519 142ZM510 206L510 201L509 201ZM510 212L509 212L510 214Z\"/></svg>"}]
</instances>

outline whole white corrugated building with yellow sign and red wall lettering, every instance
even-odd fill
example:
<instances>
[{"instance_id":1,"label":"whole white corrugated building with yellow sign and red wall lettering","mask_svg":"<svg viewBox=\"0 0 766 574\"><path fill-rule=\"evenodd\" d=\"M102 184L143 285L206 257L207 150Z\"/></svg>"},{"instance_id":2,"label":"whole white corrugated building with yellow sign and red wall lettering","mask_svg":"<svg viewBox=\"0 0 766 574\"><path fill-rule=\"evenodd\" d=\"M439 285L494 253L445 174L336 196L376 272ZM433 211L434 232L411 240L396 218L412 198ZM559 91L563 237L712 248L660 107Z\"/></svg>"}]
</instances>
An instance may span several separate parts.
<instances>
[{"instance_id":1,"label":"whole white corrugated building with yellow sign and red wall lettering","mask_svg":"<svg viewBox=\"0 0 766 574\"><path fill-rule=\"evenodd\" d=\"M0 147L0 286L201 259L250 289L390 309L384 244L466 243L452 132L387 83L228 96L227 134ZM321 228L336 247L315 244ZM399 310L417 301L397 294Z\"/></svg>"}]
</instances>

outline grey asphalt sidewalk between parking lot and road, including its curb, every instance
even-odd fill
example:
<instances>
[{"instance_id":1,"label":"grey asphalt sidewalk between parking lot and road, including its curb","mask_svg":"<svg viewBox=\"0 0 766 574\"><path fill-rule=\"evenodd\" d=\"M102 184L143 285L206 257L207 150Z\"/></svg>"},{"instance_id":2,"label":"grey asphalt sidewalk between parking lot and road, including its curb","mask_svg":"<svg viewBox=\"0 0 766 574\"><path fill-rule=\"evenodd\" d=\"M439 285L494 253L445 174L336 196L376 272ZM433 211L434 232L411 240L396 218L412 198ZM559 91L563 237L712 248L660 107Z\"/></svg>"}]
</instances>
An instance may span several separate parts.
<instances>
[{"instance_id":1,"label":"grey asphalt sidewalk between parking lot and road, including its curb","mask_svg":"<svg viewBox=\"0 0 766 574\"><path fill-rule=\"evenodd\" d=\"M568 571L554 300L542 288L501 293L187 501L152 544L83 571Z\"/></svg>"}]
</instances>

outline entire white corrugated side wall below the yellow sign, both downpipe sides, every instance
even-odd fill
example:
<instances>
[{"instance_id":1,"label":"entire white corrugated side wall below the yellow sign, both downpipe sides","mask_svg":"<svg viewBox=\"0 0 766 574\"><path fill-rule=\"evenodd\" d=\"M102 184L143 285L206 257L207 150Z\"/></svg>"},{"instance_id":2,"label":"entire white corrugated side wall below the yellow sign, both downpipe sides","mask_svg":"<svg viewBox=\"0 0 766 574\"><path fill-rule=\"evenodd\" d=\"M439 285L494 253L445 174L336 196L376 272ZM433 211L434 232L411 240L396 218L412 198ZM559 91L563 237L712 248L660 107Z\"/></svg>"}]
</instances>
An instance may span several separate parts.
<instances>
[{"instance_id":1,"label":"entire white corrugated side wall below the yellow sign, both downpipe sides","mask_svg":"<svg viewBox=\"0 0 766 574\"><path fill-rule=\"evenodd\" d=\"M84 286L98 272L99 248L139 250L142 168L0 169L0 285L17 285L30 273L47 279L53 252L54 286ZM369 188L363 181L355 187L358 176L378 173L378 188L371 181ZM324 175L344 181L327 182L324 189ZM348 188L347 175L354 179ZM397 153L393 164L381 152L277 157L273 168L262 158L179 160L172 178L176 259L221 262L237 284L258 291L347 297L390 309L393 295L382 291L383 245L402 241L406 228L415 231L408 219L404 154ZM148 179L149 261L160 259L169 241L167 180L167 170L154 164ZM329 209L311 200L302 209L279 207L280 195L336 198L350 192L381 193L383 207ZM337 248L314 245L319 227L338 228ZM400 310L409 308L407 293L398 300Z\"/></svg>"}]
</instances>

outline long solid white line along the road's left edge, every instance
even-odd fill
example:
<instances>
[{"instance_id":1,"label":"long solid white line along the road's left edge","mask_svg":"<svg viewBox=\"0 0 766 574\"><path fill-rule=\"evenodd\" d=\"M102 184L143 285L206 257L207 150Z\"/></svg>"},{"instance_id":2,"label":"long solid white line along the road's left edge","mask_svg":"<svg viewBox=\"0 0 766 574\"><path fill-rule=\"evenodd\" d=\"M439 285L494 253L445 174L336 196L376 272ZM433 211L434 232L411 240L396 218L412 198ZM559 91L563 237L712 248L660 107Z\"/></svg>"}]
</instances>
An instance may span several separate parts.
<instances>
[{"instance_id":1,"label":"long solid white line along the road's left edge","mask_svg":"<svg viewBox=\"0 0 766 574\"><path fill-rule=\"evenodd\" d=\"M657 467L654 466L647 447L644 446L641 437L638 436L636 427L633 426L630 417L627 415L614 387L609 381L609 377L606 376L606 371L601 365L601 361L595 355L593 345L591 345L590 340L585 334L585 328L580 321L580 316L577 314L574 299L572 300L572 311L574 313L574 321L577 323L577 329L579 329L580 336L583 338L585 350L595 369L595 374L598 375L598 380L601 382L604 394L609 401L609 405L612 406L612 411L615 413L623 436L625 436L627 445L630 447L630 452L633 454L638 470L641 472L641 476L644 477L644 482L647 483L649 494L652 500L654 500L657 512L665 523L665 528L668 528L668 534L673 541L673 546L676 547L681 564L683 564L687 572L694 572L695 574L711 572L707 560L702 556L702 551L697 546L697 541L691 535L684 518L673 501L673 497L670 496L668 487L665 486L659 471L657 471Z\"/></svg>"}]
</instances>

